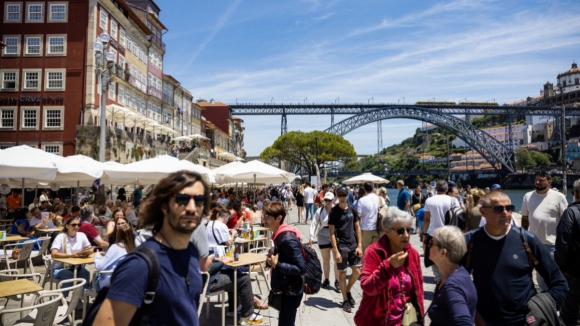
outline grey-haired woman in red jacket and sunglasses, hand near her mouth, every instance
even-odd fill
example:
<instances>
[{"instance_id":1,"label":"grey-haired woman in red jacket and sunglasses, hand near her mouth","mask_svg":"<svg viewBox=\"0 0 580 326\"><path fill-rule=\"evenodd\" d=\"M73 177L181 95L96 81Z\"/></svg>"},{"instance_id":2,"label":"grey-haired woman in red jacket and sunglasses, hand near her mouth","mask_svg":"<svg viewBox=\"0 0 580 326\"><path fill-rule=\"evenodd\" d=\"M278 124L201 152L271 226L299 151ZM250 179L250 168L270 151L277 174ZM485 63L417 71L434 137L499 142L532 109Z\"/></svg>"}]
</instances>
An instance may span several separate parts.
<instances>
[{"instance_id":1,"label":"grey-haired woman in red jacket and sunglasses, hand near her mouth","mask_svg":"<svg viewBox=\"0 0 580 326\"><path fill-rule=\"evenodd\" d=\"M365 251L356 325L401 325L407 303L417 312L415 325L423 324L423 273L410 243L411 222L409 214L389 207L382 220L385 234Z\"/></svg>"}]
</instances>

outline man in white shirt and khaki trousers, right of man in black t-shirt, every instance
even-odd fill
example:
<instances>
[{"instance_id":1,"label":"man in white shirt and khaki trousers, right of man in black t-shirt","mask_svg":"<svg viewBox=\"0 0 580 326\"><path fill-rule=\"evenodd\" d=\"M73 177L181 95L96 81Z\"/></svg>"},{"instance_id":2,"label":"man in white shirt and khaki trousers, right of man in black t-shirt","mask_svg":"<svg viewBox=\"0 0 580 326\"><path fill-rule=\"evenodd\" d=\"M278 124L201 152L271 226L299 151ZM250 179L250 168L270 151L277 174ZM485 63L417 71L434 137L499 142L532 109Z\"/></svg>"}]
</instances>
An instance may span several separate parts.
<instances>
[{"instance_id":1,"label":"man in white shirt and khaki trousers, right of man in black t-shirt","mask_svg":"<svg viewBox=\"0 0 580 326\"><path fill-rule=\"evenodd\" d=\"M360 217L362 233L363 257L368 246L379 240L381 234L377 233L377 214L381 209L379 196L374 193L374 185L367 181L363 186L365 195L358 200L357 212Z\"/></svg>"}]
</instances>

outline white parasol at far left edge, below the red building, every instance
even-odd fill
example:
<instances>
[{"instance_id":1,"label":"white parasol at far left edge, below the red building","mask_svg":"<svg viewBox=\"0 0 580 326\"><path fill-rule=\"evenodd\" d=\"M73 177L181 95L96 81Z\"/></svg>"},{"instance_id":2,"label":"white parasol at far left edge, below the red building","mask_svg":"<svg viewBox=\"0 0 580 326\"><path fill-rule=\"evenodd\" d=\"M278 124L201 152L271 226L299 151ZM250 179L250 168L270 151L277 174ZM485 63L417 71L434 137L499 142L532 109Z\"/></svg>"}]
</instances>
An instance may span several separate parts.
<instances>
[{"instance_id":1,"label":"white parasol at far left edge, below the red building","mask_svg":"<svg viewBox=\"0 0 580 326\"><path fill-rule=\"evenodd\" d=\"M63 159L26 145L0 150L0 179L53 180L57 172L56 162Z\"/></svg>"}]
</instances>

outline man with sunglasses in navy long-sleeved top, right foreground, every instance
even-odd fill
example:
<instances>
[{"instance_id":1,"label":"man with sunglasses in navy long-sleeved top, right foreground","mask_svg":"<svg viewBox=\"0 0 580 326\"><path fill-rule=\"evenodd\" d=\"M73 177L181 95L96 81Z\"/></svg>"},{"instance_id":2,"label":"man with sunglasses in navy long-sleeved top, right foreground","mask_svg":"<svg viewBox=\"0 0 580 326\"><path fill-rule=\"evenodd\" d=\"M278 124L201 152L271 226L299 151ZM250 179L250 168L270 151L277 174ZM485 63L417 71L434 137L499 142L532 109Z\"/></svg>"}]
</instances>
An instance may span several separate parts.
<instances>
[{"instance_id":1,"label":"man with sunglasses in navy long-sleeved top, right foreground","mask_svg":"<svg viewBox=\"0 0 580 326\"><path fill-rule=\"evenodd\" d=\"M479 209L487 223L466 234L469 250L462 265L473 275L477 289L477 326L526 325L526 305L537 293L520 229L512 225L514 209L505 193L490 192ZM559 307L567 291L564 276L537 236L525 231L524 239Z\"/></svg>"}]
</instances>

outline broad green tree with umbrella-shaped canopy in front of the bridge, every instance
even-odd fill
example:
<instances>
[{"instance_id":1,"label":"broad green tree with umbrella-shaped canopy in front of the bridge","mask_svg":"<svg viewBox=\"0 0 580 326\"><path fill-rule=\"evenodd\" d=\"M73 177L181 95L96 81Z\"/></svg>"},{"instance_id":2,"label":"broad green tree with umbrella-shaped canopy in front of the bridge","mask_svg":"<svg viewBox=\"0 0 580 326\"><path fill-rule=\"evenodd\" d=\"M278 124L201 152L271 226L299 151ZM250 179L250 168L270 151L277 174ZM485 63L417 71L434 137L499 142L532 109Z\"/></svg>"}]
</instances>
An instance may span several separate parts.
<instances>
[{"instance_id":1,"label":"broad green tree with umbrella-shaped canopy in front of the bridge","mask_svg":"<svg viewBox=\"0 0 580 326\"><path fill-rule=\"evenodd\" d=\"M283 160L301 166L308 174L316 174L316 165L340 162L345 165L356 162L352 144L342 136L323 131L291 131L276 139L272 146L260 154L265 161ZM316 165L315 165L316 164Z\"/></svg>"}]
</instances>

